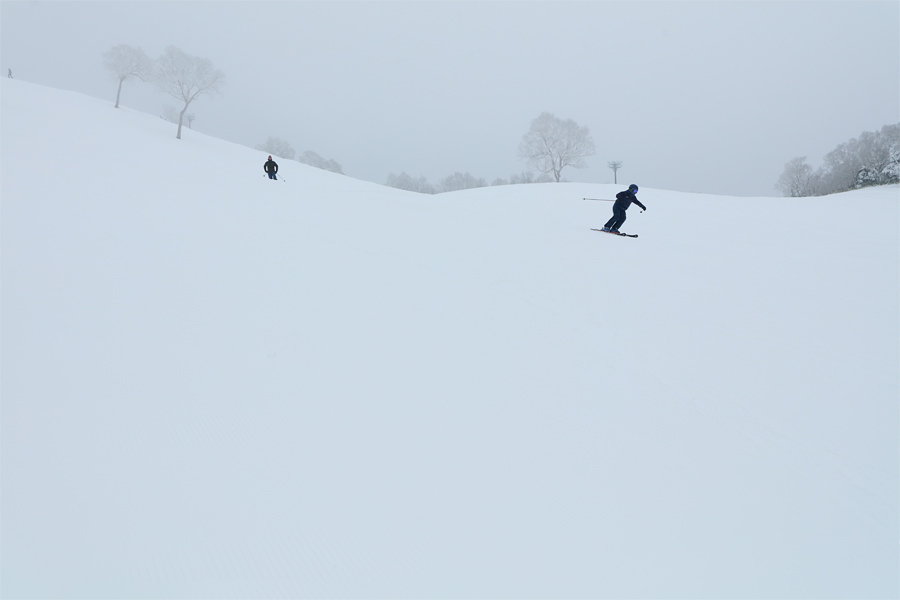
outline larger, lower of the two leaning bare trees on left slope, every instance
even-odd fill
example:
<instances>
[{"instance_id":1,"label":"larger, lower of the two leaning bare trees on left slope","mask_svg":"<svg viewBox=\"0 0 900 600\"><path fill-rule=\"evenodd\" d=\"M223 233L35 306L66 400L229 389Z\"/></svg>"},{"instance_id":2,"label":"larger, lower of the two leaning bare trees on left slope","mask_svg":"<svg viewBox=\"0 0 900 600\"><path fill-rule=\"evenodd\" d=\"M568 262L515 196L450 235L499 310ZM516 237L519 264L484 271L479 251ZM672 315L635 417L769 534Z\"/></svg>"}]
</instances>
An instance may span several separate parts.
<instances>
[{"instance_id":1,"label":"larger, lower of the two leaning bare trees on left slope","mask_svg":"<svg viewBox=\"0 0 900 600\"><path fill-rule=\"evenodd\" d=\"M156 83L175 98L184 102L178 115L178 133L181 139L181 124L191 102L203 94L217 94L225 82L225 74L215 68L207 58L185 54L175 46L169 46L156 62Z\"/></svg>"}]
</instances>

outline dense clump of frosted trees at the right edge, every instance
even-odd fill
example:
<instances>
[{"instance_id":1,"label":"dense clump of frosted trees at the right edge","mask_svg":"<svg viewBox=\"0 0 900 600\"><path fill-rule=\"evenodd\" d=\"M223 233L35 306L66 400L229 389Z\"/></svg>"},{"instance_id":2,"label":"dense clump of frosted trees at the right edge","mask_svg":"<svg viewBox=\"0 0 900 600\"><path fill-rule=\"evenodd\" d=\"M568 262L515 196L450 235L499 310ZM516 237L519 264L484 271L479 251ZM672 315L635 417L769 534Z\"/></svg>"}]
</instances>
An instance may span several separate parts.
<instances>
[{"instance_id":1,"label":"dense clump of frosted trees at the right edge","mask_svg":"<svg viewBox=\"0 0 900 600\"><path fill-rule=\"evenodd\" d=\"M824 196L873 185L900 183L900 123L864 131L825 155L816 170L805 156L792 158L775 189L785 196Z\"/></svg>"}]
</instances>

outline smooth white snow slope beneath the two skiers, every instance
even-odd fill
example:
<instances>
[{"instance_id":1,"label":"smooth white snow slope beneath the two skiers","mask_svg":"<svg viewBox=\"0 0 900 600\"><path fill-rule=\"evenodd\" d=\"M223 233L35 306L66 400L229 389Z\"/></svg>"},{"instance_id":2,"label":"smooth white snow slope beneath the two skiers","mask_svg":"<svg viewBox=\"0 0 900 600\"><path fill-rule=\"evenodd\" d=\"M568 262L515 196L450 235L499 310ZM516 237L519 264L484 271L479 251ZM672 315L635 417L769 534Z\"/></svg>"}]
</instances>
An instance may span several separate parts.
<instances>
[{"instance_id":1,"label":"smooth white snow slope beneath the two skiers","mask_svg":"<svg viewBox=\"0 0 900 600\"><path fill-rule=\"evenodd\" d=\"M22 81L0 126L3 597L900 595L897 186L629 239L624 186L270 181Z\"/></svg>"}]
</instances>

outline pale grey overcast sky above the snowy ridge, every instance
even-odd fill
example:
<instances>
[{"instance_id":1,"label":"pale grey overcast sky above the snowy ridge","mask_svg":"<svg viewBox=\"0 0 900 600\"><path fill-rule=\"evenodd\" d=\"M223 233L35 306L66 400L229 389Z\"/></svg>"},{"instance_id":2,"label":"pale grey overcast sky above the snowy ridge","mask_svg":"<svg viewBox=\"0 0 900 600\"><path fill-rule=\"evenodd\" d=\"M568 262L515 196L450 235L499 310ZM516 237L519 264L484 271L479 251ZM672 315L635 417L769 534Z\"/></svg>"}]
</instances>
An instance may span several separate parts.
<instances>
[{"instance_id":1,"label":"pale grey overcast sky above the snowy ridge","mask_svg":"<svg viewBox=\"0 0 900 600\"><path fill-rule=\"evenodd\" d=\"M548 111L597 147L570 181L612 183L618 160L619 183L774 196L791 158L818 167L900 122L894 0L4 0L0 27L3 73L110 102L101 53L115 45L208 58L226 80L191 106L196 130L251 147L281 137L378 183L509 178ZM176 101L135 83L122 104L159 115Z\"/></svg>"}]
</instances>

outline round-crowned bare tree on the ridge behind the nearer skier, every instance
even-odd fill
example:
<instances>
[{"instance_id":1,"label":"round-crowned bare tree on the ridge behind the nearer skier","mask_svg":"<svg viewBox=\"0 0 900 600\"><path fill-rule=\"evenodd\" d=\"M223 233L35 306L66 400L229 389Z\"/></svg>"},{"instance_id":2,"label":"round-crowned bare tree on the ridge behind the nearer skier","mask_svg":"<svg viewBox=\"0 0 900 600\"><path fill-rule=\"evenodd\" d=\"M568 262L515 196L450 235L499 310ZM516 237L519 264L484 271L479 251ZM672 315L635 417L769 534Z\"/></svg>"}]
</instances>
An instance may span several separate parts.
<instances>
[{"instance_id":1,"label":"round-crowned bare tree on the ridge behind the nearer skier","mask_svg":"<svg viewBox=\"0 0 900 600\"><path fill-rule=\"evenodd\" d=\"M552 174L558 182L566 167L583 169L585 157L596 152L587 127L572 119L563 121L551 113L541 113L519 144L519 158L541 173Z\"/></svg>"}]
</instances>

